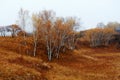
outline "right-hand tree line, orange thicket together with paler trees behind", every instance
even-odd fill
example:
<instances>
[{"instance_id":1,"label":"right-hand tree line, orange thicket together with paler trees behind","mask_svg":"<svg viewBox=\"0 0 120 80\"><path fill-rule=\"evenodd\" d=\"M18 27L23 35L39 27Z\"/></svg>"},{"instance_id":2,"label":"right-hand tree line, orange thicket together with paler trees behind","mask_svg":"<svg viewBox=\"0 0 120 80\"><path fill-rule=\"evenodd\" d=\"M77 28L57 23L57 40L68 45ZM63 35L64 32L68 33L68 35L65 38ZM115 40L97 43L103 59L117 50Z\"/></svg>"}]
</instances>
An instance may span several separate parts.
<instances>
[{"instance_id":1,"label":"right-hand tree line, orange thicket together with paler trees behind","mask_svg":"<svg viewBox=\"0 0 120 80\"><path fill-rule=\"evenodd\" d=\"M83 37L91 47L108 46L111 41L114 42L114 39L118 37L114 36L119 35L117 30L120 30L120 23L110 22L107 25L98 23L95 29L86 30Z\"/></svg>"}]
</instances>

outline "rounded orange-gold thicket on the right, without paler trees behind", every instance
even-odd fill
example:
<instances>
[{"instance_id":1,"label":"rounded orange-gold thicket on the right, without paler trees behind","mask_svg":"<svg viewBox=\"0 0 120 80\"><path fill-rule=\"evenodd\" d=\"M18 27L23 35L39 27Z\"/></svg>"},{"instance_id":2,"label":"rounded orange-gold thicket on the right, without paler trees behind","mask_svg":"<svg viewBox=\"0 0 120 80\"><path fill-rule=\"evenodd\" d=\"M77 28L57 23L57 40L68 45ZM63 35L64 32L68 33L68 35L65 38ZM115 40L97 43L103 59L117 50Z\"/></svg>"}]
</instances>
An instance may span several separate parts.
<instances>
[{"instance_id":1,"label":"rounded orange-gold thicket on the right, without paler trees behind","mask_svg":"<svg viewBox=\"0 0 120 80\"><path fill-rule=\"evenodd\" d=\"M99 45L108 45L108 41L112 38L115 33L113 28L95 28L85 32L84 40L89 42L90 45L95 46L98 42ZM101 43L99 44L99 42ZM96 45L97 46L97 45Z\"/></svg>"}]
</instances>

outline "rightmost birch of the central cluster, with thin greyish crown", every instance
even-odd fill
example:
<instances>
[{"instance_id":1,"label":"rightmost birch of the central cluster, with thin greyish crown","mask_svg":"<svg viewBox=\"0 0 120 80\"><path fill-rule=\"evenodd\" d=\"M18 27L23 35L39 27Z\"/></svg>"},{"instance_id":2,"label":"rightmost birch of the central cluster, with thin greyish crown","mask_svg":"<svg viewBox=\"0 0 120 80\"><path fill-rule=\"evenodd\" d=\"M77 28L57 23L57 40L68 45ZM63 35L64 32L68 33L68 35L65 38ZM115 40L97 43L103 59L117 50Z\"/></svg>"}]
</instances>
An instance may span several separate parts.
<instances>
[{"instance_id":1,"label":"rightmost birch of the central cluster, with thin greyish crown","mask_svg":"<svg viewBox=\"0 0 120 80\"><path fill-rule=\"evenodd\" d=\"M74 50L76 42L76 30L80 27L79 19L73 17L67 18L66 26L68 31L68 48Z\"/></svg>"}]
</instances>

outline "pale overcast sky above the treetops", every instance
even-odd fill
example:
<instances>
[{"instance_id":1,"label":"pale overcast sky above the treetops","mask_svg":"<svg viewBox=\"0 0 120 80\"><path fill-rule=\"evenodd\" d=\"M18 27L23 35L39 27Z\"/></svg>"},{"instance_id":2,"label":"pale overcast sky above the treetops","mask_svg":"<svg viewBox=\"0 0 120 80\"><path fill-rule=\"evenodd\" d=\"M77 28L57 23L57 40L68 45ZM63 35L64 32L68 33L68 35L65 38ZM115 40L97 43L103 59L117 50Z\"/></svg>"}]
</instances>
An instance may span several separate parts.
<instances>
[{"instance_id":1,"label":"pale overcast sky above the treetops","mask_svg":"<svg viewBox=\"0 0 120 80\"><path fill-rule=\"evenodd\" d=\"M84 28L120 22L120 0L0 0L0 25L16 22L20 8L31 13L53 10L57 16L76 16Z\"/></svg>"}]
</instances>

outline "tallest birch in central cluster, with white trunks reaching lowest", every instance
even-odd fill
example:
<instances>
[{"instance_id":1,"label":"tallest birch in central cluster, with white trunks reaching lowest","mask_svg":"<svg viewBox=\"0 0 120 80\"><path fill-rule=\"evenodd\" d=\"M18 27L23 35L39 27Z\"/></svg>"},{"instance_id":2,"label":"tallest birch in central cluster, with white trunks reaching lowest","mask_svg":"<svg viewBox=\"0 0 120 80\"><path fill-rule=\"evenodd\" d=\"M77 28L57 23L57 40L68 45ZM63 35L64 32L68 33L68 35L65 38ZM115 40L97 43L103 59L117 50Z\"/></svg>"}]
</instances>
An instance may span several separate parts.
<instances>
[{"instance_id":1,"label":"tallest birch in central cluster, with white trunks reaching lowest","mask_svg":"<svg viewBox=\"0 0 120 80\"><path fill-rule=\"evenodd\" d=\"M56 36L54 35L55 29L54 29L54 18L55 18L55 13L52 11L43 11L40 13L40 17L42 19L42 33L43 33L43 38L45 40L45 45L47 48L47 55L49 61L52 60L53 56L53 51L55 49L55 44L56 44Z\"/></svg>"}]
</instances>

